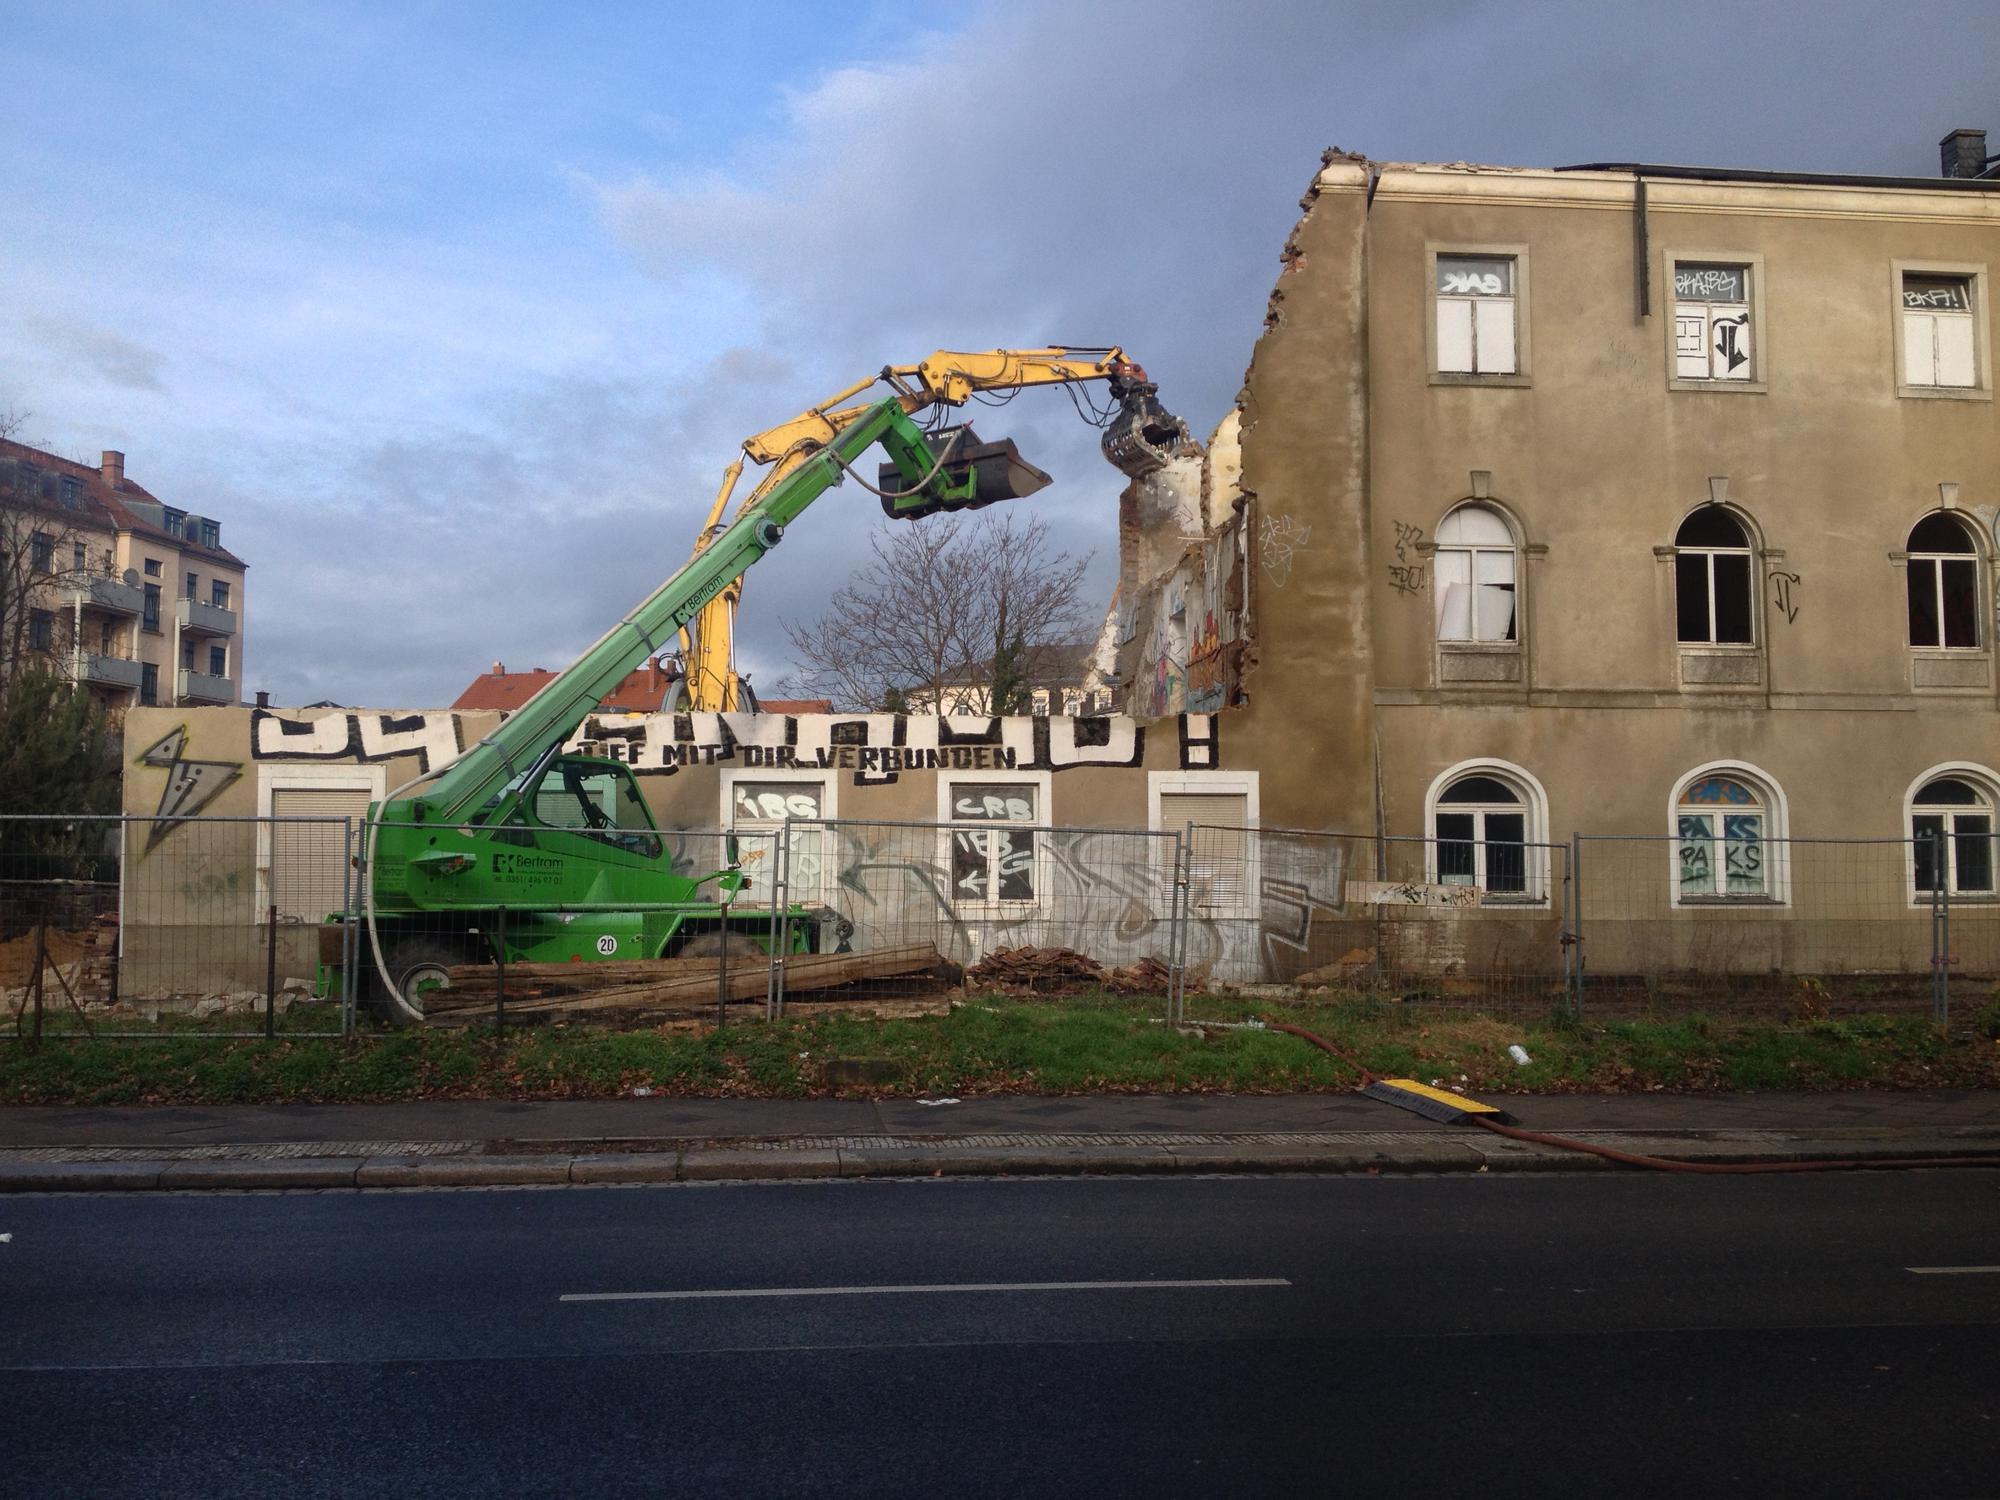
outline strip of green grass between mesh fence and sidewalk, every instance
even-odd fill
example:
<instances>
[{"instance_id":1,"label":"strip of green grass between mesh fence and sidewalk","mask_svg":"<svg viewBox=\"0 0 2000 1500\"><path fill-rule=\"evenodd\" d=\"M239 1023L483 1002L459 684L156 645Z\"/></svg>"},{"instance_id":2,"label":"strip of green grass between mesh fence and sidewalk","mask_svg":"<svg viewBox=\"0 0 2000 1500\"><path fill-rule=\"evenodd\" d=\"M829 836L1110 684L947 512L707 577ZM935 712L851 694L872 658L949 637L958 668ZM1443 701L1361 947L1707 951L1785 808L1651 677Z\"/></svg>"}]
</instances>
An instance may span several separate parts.
<instances>
[{"instance_id":1,"label":"strip of green grass between mesh fence and sidewalk","mask_svg":"<svg viewBox=\"0 0 2000 1500\"><path fill-rule=\"evenodd\" d=\"M1158 1000L980 1000L950 1014L812 1016L722 1030L544 1026L274 1042L164 1032L0 1044L0 1104L284 1104L422 1098L916 1094L1258 1094L1352 1088L1354 1074L1278 1032L1188 1034ZM1190 1014L1292 1020L1378 1074L1472 1094L2000 1088L2000 1006L1950 1030L1924 1016L1566 1022L1426 1014L1368 1000L1190 1002ZM1516 1066L1508 1044L1528 1050ZM880 1058L896 1084L834 1090L830 1058Z\"/></svg>"}]
</instances>

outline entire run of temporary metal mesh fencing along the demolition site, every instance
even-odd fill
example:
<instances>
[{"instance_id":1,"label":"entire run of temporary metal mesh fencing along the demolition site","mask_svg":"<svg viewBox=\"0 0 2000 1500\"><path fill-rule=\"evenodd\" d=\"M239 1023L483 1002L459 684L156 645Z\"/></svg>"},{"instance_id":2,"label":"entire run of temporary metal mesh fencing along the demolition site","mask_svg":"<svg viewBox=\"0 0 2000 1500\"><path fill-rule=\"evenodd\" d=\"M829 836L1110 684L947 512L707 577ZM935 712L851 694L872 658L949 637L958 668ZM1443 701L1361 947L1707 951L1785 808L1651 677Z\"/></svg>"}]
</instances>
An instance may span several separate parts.
<instances>
[{"instance_id":1,"label":"entire run of temporary metal mesh fencing along the demolition site","mask_svg":"<svg viewBox=\"0 0 2000 1500\"><path fill-rule=\"evenodd\" d=\"M0 818L0 1030L340 1034L358 1004L394 1012L384 974L430 1024L708 1024L960 994L1176 1020L1282 994L1942 1022L1954 986L2000 992L1988 834L1702 824L1528 844L1490 824L1438 840L1056 828L1004 798L986 812L534 828L462 864L450 830L388 826L372 870L366 826L342 816Z\"/></svg>"}]
</instances>

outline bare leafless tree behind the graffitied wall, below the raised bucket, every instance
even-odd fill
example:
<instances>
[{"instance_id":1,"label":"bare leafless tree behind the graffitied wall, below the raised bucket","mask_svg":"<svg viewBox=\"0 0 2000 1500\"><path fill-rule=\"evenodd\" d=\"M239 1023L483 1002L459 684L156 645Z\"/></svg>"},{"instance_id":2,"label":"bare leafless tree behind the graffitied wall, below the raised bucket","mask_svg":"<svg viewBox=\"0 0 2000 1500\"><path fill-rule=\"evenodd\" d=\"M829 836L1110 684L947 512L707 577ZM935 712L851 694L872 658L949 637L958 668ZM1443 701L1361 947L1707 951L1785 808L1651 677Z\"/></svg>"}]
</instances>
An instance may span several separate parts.
<instances>
[{"instance_id":1,"label":"bare leafless tree behind the graffitied wall, below the raised bucket","mask_svg":"<svg viewBox=\"0 0 2000 1500\"><path fill-rule=\"evenodd\" d=\"M932 516L870 538L870 560L810 624L786 622L790 692L842 708L992 708L994 668L1084 628L1088 556L1014 512ZM998 646L996 646L998 642ZM1012 682L1002 692L1016 698Z\"/></svg>"}]
</instances>

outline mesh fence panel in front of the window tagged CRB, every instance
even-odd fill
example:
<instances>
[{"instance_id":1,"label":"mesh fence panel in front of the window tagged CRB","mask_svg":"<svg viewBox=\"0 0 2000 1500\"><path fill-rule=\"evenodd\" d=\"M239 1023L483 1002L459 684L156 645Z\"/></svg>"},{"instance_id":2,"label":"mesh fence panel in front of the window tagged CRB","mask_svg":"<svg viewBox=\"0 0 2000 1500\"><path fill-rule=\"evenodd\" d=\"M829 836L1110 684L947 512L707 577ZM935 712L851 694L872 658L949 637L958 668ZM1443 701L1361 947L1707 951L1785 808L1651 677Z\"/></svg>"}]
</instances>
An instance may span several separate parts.
<instances>
[{"instance_id":1,"label":"mesh fence panel in front of the window tagged CRB","mask_svg":"<svg viewBox=\"0 0 2000 1500\"><path fill-rule=\"evenodd\" d=\"M990 798L984 818L788 820L780 910L820 912L850 960L782 966L778 1006L966 990L1168 996L1180 834L1052 828ZM782 924L792 918L782 916Z\"/></svg>"}]
</instances>

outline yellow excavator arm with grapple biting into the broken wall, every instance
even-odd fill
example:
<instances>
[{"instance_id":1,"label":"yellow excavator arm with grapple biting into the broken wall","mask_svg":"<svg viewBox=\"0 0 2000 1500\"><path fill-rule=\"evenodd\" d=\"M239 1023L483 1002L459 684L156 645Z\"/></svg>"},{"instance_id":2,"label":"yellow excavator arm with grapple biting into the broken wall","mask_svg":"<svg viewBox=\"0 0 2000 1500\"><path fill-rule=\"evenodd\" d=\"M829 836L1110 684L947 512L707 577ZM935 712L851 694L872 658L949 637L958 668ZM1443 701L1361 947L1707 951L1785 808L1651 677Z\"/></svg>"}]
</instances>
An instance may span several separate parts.
<instances>
[{"instance_id":1,"label":"yellow excavator arm with grapple biting into the broken wall","mask_svg":"<svg viewBox=\"0 0 2000 1500\"><path fill-rule=\"evenodd\" d=\"M872 410L880 396L856 402L864 390L886 384L906 414L930 406L962 406L974 394L1012 392L1028 386L1072 386L1086 380L1108 380L1118 398L1118 410L1104 432L1104 456L1120 470L1150 474L1166 456L1188 442L1188 430L1160 406L1146 372L1120 348L996 348L978 354L938 350L918 364L886 364L880 374L856 380L818 406L810 406L790 422L780 422L744 438L742 458L724 470L716 504L694 540L694 554L714 540L724 526L724 510L742 476L744 458L768 466L742 504L754 504L770 486L826 448L844 428ZM846 404L844 404L846 402ZM1044 476L1046 480L1046 476ZM732 712L742 708L744 688L736 676L736 606L742 602L738 576L710 600L694 628L680 632L684 668L684 708ZM692 638L690 638L692 636Z\"/></svg>"}]
</instances>

